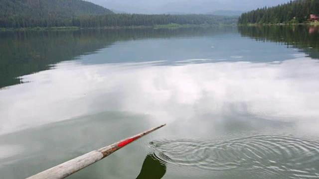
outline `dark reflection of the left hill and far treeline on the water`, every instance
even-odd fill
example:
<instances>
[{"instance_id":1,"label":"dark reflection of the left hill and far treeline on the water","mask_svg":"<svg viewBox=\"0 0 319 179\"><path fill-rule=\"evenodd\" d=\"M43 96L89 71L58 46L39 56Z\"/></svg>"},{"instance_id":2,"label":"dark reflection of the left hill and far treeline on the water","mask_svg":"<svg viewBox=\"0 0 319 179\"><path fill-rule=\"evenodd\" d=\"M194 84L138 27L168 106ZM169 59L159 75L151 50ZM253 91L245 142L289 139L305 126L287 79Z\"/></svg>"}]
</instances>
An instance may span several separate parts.
<instances>
[{"instance_id":1,"label":"dark reflection of the left hill and far treeline on the water","mask_svg":"<svg viewBox=\"0 0 319 179\"><path fill-rule=\"evenodd\" d=\"M0 32L0 89L22 83L20 77L55 64L97 53L118 41L180 38L233 33L236 27L178 29L83 29L75 31ZM112 60L112 59L110 59ZM128 62L125 61L114 62ZM112 61L109 61L109 63Z\"/></svg>"}]
</instances>

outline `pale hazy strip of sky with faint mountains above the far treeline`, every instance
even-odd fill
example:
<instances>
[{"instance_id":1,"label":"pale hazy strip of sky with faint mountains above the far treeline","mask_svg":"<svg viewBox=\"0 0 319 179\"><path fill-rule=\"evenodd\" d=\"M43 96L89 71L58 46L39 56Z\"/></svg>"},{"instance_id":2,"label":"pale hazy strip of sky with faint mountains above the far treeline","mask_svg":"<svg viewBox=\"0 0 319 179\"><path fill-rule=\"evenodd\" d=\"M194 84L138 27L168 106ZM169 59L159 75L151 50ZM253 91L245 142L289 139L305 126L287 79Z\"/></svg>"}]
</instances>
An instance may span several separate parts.
<instances>
[{"instance_id":1,"label":"pale hazy strip of sky with faint mountains above the far treeline","mask_svg":"<svg viewBox=\"0 0 319 179\"><path fill-rule=\"evenodd\" d=\"M216 10L247 11L289 0L87 0L116 11L131 13L210 13Z\"/></svg>"}]
</instances>

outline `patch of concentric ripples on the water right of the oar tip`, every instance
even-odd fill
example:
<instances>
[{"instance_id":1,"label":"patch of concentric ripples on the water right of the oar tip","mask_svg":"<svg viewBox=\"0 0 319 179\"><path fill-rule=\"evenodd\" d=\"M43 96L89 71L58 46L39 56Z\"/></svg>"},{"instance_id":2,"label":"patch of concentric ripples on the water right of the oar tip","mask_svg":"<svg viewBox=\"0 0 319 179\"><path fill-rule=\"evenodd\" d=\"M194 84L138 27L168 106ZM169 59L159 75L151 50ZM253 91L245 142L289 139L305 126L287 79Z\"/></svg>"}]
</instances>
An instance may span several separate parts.
<instances>
[{"instance_id":1,"label":"patch of concentric ripples on the water right of the oar tip","mask_svg":"<svg viewBox=\"0 0 319 179\"><path fill-rule=\"evenodd\" d=\"M148 146L172 168L191 167L211 172L315 178L319 170L319 142L308 138L256 135L225 141L162 140ZM161 158L160 156L166 156Z\"/></svg>"}]
</instances>

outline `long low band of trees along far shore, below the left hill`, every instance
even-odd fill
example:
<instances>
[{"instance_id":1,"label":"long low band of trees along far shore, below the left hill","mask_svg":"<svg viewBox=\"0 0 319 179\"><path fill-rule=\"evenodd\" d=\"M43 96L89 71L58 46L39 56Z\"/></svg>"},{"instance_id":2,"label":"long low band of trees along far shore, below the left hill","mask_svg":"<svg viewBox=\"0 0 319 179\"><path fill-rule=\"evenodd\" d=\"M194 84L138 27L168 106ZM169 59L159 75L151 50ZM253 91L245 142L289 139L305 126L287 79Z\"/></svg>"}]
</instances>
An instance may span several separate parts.
<instances>
[{"instance_id":1,"label":"long low band of trees along far shore, below the left hill","mask_svg":"<svg viewBox=\"0 0 319 179\"><path fill-rule=\"evenodd\" d=\"M61 27L76 26L81 28L94 27L125 27L125 26L155 26L165 24L218 25L236 24L237 16L217 15L147 15L147 14L106 14L78 15L74 17L51 16L47 18L11 17L0 19L2 28L32 28L32 27Z\"/></svg>"}]
</instances>

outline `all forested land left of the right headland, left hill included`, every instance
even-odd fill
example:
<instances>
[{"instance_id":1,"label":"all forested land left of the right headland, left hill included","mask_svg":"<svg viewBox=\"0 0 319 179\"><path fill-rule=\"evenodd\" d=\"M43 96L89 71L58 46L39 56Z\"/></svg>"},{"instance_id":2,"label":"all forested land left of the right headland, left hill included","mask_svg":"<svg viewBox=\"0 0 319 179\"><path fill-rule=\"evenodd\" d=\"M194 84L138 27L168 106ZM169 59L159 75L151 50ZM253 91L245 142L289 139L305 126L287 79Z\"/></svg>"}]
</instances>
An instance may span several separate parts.
<instances>
[{"instance_id":1,"label":"all forested land left of the right headland, left hill included","mask_svg":"<svg viewBox=\"0 0 319 179\"><path fill-rule=\"evenodd\" d=\"M140 27L236 24L238 16L114 14L83 0L1 0L0 28Z\"/></svg>"}]
</instances>

